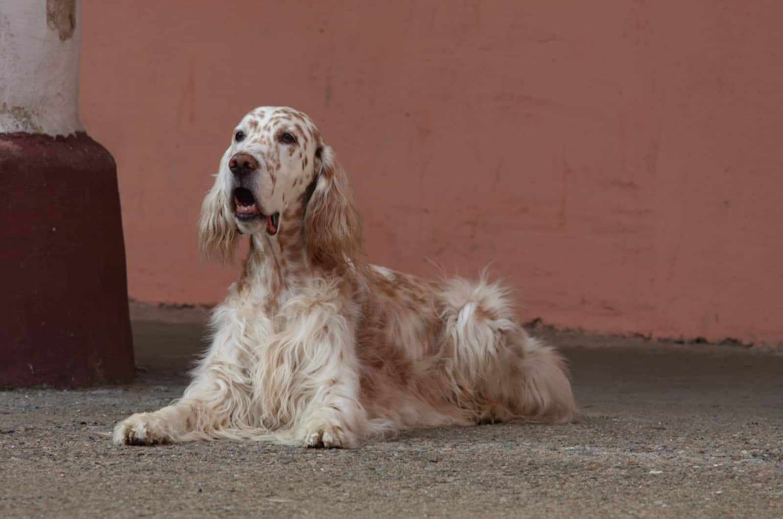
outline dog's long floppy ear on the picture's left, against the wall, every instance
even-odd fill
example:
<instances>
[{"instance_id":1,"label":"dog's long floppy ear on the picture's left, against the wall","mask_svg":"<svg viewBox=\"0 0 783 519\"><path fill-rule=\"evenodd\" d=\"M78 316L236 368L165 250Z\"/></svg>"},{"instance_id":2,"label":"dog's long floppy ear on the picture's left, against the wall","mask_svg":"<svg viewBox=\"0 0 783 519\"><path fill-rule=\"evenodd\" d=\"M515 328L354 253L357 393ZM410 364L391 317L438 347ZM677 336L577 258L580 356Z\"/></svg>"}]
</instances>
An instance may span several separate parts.
<instances>
[{"instance_id":1,"label":"dog's long floppy ear on the picture's left, against the wall","mask_svg":"<svg viewBox=\"0 0 783 519\"><path fill-rule=\"evenodd\" d=\"M201 203L198 246L201 257L218 263L233 262L236 242L239 241L231 208L222 189L220 175Z\"/></svg>"}]
</instances>

